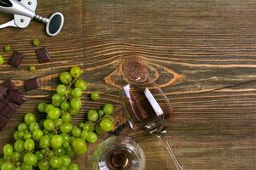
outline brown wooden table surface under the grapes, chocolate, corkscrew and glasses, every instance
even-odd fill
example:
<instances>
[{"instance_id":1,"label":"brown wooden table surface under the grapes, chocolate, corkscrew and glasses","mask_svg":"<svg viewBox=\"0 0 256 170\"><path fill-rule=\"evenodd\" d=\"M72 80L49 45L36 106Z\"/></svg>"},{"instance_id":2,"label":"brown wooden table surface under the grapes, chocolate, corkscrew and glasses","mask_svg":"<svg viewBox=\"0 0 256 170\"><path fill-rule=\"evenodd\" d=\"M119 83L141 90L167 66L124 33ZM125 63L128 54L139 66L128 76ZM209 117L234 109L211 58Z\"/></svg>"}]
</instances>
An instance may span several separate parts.
<instances>
[{"instance_id":1,"label":"brown wooden table surface under the grapes, chocolate, corkscrew and glasses","mask_svg":"<svg viewBox=\"0 0 256 170\"><path fill-rule=\"evenodd\" d=\"M139 56L172 101L175 114L168 134L186 169L256 169L255 0L38 1L38 14L55 11L66 17L57 37L47 37L36 21L26 29L0 30L0 47L10 44L25 55L14 69L6 64L11 54L1 49L7 60L0 66L1 81L11 78L20 88L31 77L42 82L41 88L26 93L29 100L0 133L0 147L13 141L26 112L36 112L39 101L49 101L58 74L73 65L83 67L90 82L76 121L106 102L120 109L112 93L119 87L117 67L125 57ZM0 23L12 18L0 15ZM51 62L38 64L34 38L49 48ZM28 72L29 65L38 71ZM102 99L92 102L88 96L96 89ZM119 112L117 117L124 116ZM131 130L125 133L141 144L147 170L174 169L159 140ZM87 155L76 158L80 169L91 169L95 146L90 144Z\"/></svg>"}]
</instances>

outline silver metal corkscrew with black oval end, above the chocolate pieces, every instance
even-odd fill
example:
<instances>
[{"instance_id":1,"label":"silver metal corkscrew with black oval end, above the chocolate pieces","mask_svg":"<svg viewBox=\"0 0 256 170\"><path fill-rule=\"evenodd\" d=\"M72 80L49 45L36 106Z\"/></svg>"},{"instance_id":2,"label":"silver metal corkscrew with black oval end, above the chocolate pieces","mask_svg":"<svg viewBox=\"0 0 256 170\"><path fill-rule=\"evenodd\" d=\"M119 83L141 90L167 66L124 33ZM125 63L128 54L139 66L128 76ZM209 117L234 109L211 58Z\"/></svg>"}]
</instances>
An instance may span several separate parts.
<instances>
[{"instance_id":1,"label":"silver metal corkscrew with black oval end, above the chocolate pieces","mask_svg":"<svg viewBox=\"0 0 256 170\"><path fill-rule=\"evenodd\" d=\"M40 16L35 13L37 5L37 0L0 0L0 12L14 14L14 20L0 25L0 29L8 26L26 28L34 19L46 24L46 33L50 37L55 37L64 24L63 14L56 12L49 18Z\"/></svg>"}]
</instances>

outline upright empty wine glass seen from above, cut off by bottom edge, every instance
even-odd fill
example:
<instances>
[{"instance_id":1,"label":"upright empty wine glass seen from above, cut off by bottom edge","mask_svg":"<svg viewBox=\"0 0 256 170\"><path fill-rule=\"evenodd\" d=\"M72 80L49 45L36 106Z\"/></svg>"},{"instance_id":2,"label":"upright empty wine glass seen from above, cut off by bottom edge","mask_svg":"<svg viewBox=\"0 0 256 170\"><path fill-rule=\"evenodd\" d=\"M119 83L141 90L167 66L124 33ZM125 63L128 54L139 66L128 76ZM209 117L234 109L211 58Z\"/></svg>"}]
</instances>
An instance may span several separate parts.
<instances>
[{"instance_id":1,"label":"upright empty wine glass seen from above, cut off by bottom edge","mask_svg":"<svg viewBox=\"0 0 256 170\"><path fill-rule=\"evenodd\" d=\"M93 153L94 170L145 170L145 156L136 141L128 136L111 136Z\"/></svg>"}]
</instances>

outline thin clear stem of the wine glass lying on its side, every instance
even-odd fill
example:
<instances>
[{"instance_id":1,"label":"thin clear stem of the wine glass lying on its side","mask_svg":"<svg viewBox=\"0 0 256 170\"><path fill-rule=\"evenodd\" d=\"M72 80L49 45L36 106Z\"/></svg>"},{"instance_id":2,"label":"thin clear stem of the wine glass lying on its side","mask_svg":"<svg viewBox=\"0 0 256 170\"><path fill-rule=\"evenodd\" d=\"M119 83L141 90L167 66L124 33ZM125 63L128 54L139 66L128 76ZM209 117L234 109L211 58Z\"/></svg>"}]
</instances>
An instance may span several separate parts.
<instances>
[{"instance_id":1,"label":"thin clear stem of the wine glass lying on its side","mask_svg":"<svg viewBox=\"0 0 256 170\"><path fill-rule=\"evenodd\" d=\"M168 137L166 133L160 133L158 138L162 141L162 143L166 146L166 150L168 151L169 155L172 157L172 161L174 162L175 166L178 170L185 170L180 162L177 160L177 157L172 151L171 144L168 141Z\"/></svg>"}]
</instances>

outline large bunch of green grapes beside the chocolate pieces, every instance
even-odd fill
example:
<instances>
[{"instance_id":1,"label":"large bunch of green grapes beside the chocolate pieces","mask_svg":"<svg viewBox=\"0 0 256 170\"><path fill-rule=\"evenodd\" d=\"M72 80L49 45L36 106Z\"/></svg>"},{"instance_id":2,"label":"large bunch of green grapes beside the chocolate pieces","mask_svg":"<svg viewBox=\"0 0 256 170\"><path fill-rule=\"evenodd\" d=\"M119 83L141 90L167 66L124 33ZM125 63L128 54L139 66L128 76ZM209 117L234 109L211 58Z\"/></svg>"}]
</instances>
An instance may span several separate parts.
<instances>
[{"instance_id":1,"label":"large bunch of green grapes beside the chocolate pieces","mask_svg":"<svg viewBox=\"0 0 256 170\"><path fill-rule=\"evenodd\" d=\"M56 87L50 104L40 103L38 111L46 116L37 122L28 113L14 133L15 144L3 146L1 170L78 170L72 163L75 155L85 154L86 143L95 143L97 135L113 130L113 105L103 105L102 110L90 110L87 121L78 126L72 117L82 106L81 95L87 82L80 78L82 71L73 67L60 75L61 84Z\"/></svg>"}]
</instances>

